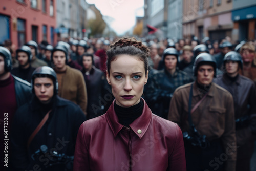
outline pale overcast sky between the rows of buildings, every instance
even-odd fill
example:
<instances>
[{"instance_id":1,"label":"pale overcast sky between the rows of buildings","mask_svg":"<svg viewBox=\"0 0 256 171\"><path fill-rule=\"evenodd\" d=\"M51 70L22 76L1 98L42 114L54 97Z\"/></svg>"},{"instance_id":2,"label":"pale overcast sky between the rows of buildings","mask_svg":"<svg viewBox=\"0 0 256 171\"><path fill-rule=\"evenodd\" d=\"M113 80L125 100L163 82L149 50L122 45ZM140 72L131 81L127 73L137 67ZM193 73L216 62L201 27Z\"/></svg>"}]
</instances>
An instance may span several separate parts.
<instances>
[{"instance_id":1,"label":"pale overcast sky between the rows of buildings","mask_svg":"<svg viewBox=\"0 0 256 171\"><path fill-rule=\"evenodd\" d=\"M114 18L111 27L121 35L135 25L136 16L144 16L144 0L86 0L95 4L102 15ZM140 9L140 10L138 10ZM137 13L137 14L136 14Z\"/></svg>"}]
</instances>

